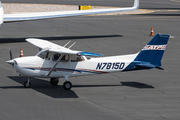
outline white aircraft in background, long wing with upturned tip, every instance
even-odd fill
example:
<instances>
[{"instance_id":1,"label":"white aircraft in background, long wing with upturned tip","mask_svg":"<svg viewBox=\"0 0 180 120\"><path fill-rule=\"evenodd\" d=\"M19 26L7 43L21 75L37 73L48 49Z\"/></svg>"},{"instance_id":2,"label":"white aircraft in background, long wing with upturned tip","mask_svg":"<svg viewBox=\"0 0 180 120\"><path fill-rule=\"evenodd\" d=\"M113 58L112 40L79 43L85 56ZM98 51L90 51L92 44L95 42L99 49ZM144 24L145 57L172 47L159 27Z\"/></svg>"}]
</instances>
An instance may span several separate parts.
<instances>
[{"instance_id":1,"label":"white aircraft in background, long wing with upturned tip","mask_svg":"<svg viewBox=\"0 0 180 120\"><path fill-rule=\"evenodd\" d=\"M139 0L134 0L134 6L126 7L126 8L4 14L3 7L0 3L0 25L3 22L27 21L27 20L47 19L47 18L60 18L60 17L80 16L80 15L89 15L89 14L110 13L110 12L132 11L138 8L139 8Z\"/></svg>"}]
</instances>

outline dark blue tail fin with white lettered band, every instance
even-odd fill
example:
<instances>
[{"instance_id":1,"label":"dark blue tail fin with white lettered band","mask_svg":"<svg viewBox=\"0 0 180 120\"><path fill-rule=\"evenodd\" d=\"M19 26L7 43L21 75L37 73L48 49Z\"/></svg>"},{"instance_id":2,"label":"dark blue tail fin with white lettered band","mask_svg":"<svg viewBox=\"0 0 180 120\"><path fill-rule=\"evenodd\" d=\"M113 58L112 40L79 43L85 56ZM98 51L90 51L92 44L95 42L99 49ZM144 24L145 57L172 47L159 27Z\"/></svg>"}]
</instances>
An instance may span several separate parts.
<instances>
[{"instance_id":1,"label":"dark blue tail fin with white lettered band","mask_svg":"<svg viewBox=\"0 0 180 120\"><path fill-rule=\"evenodd\" d=\"M141 61L139 66L158 67L166 49L170 35L157 34L137 55L134 61Z\"/></svg>"}]
</instances>

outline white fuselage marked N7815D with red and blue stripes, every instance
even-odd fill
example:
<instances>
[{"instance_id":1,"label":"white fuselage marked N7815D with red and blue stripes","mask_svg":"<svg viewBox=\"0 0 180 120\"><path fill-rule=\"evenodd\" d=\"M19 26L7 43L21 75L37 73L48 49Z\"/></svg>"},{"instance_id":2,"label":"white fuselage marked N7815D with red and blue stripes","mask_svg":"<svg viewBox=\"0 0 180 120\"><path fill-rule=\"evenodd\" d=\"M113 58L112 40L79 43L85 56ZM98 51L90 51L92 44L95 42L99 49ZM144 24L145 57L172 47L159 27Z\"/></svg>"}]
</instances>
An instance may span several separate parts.
<instances>
[{"instance_id":1,"label":"white fuselage marked N7815D with red and blue stripes","mask_svg":"<svg viewBox=\"0 0 180 120\"><path fill-rule=\"evenodd\" d=\"M82 60L80 61L72 60L72 56L69 55L68 60L58 62L49 76L47 76L47 74L56 63L52 57L49 59L42 59L39 56L16 58L14 59L14 67L17 73L27 77L60 78L101 74L124 70L135 59L136 55L137 54L89 59L81 56Z\"/></svg>"}]
</instances>

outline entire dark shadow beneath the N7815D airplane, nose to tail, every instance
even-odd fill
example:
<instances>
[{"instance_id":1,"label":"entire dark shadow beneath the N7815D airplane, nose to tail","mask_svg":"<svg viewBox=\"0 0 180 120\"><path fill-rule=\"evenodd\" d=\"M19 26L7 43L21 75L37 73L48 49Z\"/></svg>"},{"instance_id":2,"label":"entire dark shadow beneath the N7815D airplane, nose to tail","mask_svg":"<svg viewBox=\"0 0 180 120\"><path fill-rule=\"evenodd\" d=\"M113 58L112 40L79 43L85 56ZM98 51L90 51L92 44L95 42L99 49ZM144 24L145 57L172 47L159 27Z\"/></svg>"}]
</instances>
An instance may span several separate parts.
<instances>
[{"instance_id":1,"label":"entire dark shadow beneath the N7815D airplane, nose to tail","mask_svg":"<svg viewBox=\"0 0 180 120\"><path fill-rule=\"evenodd\" d=\"M33 89L44 95L52 98L78 98L78 95L72 90L64 90L62 85L51 85L49 81L33 78L31 82L31 88L24 88L23 83L27 80L27 77L22 76L8 76L11 80L20 83L20 86L3 86L2 89ZM135 87L138 89L154 88L151 85L147 85L139 82L120 82L119 85L73 85L74 88L80 87L113 87L113 86L128 86Z\"/></svg>"}]
</instances>

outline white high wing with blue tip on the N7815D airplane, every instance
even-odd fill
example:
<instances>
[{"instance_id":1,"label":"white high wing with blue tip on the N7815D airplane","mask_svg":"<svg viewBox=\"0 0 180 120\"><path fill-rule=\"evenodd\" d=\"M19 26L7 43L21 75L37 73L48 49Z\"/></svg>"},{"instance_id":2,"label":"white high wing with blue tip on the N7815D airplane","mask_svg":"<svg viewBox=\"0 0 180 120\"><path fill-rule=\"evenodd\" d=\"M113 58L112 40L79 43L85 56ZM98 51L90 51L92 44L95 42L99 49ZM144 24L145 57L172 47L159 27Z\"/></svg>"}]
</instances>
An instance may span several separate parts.
<instances>
[{"instance_id":1,"label":"white high wing with blue tip on the N7815D airplane","mask_svg":"<svg viewBox=\"0 0 180 120\"><path fill-rule=\"evenodd\" d=\"M57 44L54 44L52 42L49 42L47 40L42 40L42 39L29 38L29 39L26 39L26 41L40 49L48 49L50 52L57 52L61 54L83 55L83 56L101 56L101 54L97 54L97 53L71 50L69 48L65 48L64 46L60 46L60 45L57 45Z\"/></svg>"}]
</instances>

